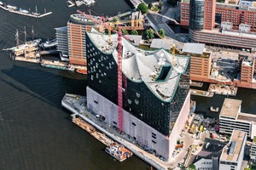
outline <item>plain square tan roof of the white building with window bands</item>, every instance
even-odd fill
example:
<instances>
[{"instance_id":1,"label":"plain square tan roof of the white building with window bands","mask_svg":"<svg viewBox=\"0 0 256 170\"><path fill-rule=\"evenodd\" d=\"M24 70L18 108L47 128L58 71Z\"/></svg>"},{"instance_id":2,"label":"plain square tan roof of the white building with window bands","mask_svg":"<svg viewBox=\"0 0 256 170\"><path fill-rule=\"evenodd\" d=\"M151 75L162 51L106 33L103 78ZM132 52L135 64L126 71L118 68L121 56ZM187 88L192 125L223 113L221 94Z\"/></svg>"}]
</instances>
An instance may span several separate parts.
<instances>
[{"instance_id":1,"label":"plain square tan roof of the white building with window bands","mask_svg":"<svg viewBox=\"0 0 256 170\"><path fill-rule=\"evenodd\" d=\"M236 118L239 109L241 107L240 99L224 99L224 104L222 105L219 116L229 116Z\"/></svg>"}]
</instances>

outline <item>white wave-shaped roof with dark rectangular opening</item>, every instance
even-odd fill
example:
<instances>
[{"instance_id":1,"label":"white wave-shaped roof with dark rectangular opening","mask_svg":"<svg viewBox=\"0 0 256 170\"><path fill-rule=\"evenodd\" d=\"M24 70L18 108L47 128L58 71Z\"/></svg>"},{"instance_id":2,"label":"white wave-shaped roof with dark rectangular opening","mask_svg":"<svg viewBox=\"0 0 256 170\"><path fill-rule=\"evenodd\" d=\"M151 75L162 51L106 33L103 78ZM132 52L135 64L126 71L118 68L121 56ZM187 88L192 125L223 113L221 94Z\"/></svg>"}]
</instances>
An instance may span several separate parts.
<instances>
[{"instance_id":1,"label":"white wave-shaped roof with dark rectangular opening","mask_svg":"<svg viewBox=\"0 0 256 170\"><path fill-rule=\"evenodd\" d=\"M108 43L108 35L98 31L88 33L96 47L104 53L113 54L118 62L117 34L113 34L112 44ZM169 102L176 93L180 76L189 65L189 56L172 55L165 49L147 51L133 46L122 38L122 71L125 77L133 82L144 82L159 99ZM108 50L102 50L106 49Z\"/></svg>"}]
</instances>

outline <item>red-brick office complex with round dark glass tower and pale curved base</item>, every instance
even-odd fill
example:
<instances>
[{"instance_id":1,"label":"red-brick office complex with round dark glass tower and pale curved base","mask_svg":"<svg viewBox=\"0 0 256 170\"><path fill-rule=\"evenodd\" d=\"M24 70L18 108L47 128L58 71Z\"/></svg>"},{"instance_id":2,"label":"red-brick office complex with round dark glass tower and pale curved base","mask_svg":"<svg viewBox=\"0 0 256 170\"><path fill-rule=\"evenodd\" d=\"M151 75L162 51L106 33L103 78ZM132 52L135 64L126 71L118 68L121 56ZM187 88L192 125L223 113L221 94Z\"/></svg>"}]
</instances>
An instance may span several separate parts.
<instances>
[{"instance_id":1,"label":"red-brick office complex with round dark glass tower and pale curved base","mask_svg":"<svg viewBox=\"0 0 256 170\"><path fill-rule=\"evenodd\" d=\"M237 14L235 14L231 11L234 5L230 5L229 2L219 4L215 3L214 0L191 0L189 11L186 8L188 2L181 3L181 23L188 24L187 15L189 14L189 38L191 42L201 42L226 48L250 50L256 48L256 27L254 27L256 7L248 6L249 3L245 3L246 5L238 4L236 7ZM219 5L223 5L222 8ZM220 11L219 14L217 11ZM227 17L222 13L226 14ZM235 16L238 15L239 18L236 18ZM219 23L215 24L215 18L219 20ZM222 23L225 22L230 22L231 26L229 28L223 27Z\"/></svg>"}]
</instances>

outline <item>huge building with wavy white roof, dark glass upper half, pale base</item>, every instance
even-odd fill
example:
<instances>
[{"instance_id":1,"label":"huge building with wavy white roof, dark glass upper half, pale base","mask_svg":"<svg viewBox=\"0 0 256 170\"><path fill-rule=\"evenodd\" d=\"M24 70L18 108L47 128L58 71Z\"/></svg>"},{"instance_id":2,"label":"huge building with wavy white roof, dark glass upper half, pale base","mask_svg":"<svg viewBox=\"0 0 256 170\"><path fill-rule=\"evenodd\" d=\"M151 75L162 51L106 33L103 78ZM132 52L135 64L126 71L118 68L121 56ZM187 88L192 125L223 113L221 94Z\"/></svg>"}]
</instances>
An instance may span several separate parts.
<instances>
[{"instance_id":1,"label":"huge building with wavy white roof, dark glass upper half, pale base","mask_svg":"<svg viewBox=\"0 0 256 170\"><path fill-rule=\"evenodd\" d=\"M119 127L117 35L86 34L87 108ZM145 51L122 38L123 133L166 161L189 115L189 56Z\"/></svg>"}]
</instances>

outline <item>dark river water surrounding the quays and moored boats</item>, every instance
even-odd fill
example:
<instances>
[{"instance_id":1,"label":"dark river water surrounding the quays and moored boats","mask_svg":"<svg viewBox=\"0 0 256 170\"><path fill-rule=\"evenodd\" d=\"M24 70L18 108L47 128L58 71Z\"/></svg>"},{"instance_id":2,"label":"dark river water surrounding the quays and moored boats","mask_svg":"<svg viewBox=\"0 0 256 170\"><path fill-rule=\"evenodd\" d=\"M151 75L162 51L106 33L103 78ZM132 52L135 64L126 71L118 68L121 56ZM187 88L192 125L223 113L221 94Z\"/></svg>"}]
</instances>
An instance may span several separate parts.
<instances>
[{"instance_id":1,"label":"dark river water surrounding the quays and moored boats","mask_svg":"<svg viewBox=\"0 0 256 170\"><path fill-rule=\"evenodd\" d=\"M65 0L2 0L3 3L53 14L33 19L0 9L0 48L14 40L16 29L31 37L52 39L55 27L67 26L70 14ZM149 0L146 2L150 2ZM81 7L85 11L87 8ZM131 9L125 0L96 0L92 14L113 15ZM40 65L12 61L0 52L0 169L149 169L144 161L132 156L119 162L104 152L105 146L70 120L61 107L65 93L85 95L86 76L75 72L43 68ZM255 111L255 90L241 89L242 111ZM224 96L212 99L192 96L196 111L221 105Z\"/></svg>"}]
</instances>

